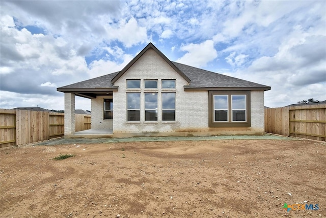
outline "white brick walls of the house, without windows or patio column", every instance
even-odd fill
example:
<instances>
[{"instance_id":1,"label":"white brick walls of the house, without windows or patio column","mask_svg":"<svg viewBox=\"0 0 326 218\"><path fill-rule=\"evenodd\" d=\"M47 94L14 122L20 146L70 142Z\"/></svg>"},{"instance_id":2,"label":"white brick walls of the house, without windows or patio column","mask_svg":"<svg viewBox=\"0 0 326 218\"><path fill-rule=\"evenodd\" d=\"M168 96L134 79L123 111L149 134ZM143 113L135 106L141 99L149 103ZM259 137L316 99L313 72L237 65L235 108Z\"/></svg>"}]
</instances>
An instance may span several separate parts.
<instances>
[{"instance_id":1,"label":"white brick walls of the house, without windows or patio column","mask_svg":"<svg viewBox=\"0 0 326 218\"><path fill-rule=\"evenodd\" d=\"M141 79L141 121L128 122L126 106L126 80ZM144 79L158 80L158 121L144 121ZM176 120L161 120L161 80L176 80ZM118 91L113 92L114 119L103 120L103 98L92 99L92 129L112 129L114 134L147 134L197 132L201 134L263 134L264 133L264 91L251 91L251 127L249 128L209 128L208 91L184 91L187 82L162 59L149 49L116 82ZM128 90L129 91L129 90ZM156 92L156 91L155 91ZM198 134L198 135L199 135Z\"/></svg>"}]
</instances>

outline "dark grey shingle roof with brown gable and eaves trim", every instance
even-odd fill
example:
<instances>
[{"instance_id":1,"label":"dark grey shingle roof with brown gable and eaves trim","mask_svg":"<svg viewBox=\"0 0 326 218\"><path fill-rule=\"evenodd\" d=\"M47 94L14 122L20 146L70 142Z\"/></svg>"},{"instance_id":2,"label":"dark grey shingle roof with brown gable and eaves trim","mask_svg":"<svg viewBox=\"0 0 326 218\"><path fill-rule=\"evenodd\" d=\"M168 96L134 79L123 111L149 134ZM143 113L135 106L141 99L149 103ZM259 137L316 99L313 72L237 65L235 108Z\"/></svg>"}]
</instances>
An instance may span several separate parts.
<instances>
[{"instance_id":1,"label":"dark grey shingle roof with brown gable and eaves trim","mask_svg":"<svg viewBox=\"0 0 326 218\"><path fill-rule=\"evenodd\" d=\"M270 86L261 85L258 83L226 76L219 73L214 73L211 71L206 71L203 69L179 64L173 61L170 61L164 54L162 54L153 44L149 43L142 51L139 53L130 63L120 72L115 72L107 74L104 76L96 77L93 79L85 80L82 82L73 83L70 85L62 86L57 88L58 91L63 92L73 92L73 91L105 91L105 90L117 90L117 86L114 86L113 83L119 79L119 77L129 69L129 67L137 61L141 55L143 55L148 49L154 49L167 63L176 70L187 82L189 85L184 86L185 89L210 89L210 90L228 90L228 89L237 89L237 90L269 90Z\"/></svg>"}]
</instances>

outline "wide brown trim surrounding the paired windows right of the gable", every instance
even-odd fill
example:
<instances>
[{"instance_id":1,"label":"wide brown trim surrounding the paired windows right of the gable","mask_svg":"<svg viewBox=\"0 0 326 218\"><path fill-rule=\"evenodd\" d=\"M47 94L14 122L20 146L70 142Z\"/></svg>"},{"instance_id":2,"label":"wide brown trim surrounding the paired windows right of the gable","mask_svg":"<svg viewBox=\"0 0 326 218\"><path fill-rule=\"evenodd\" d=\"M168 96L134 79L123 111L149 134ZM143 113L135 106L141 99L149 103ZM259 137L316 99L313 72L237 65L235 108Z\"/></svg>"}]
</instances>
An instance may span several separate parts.
<instances>
[{"instance_id":1,"label":"wide brown trim surrounding the paired windows right of the gable","mask_svg":"<svg viewBox=\"0 0 326 218\"><path fill-rule=\"evenodd\" d=\"M214 121L214 95L228 95L228 121ZM232 121L232 95L246 95L246 121ZM250 127L250 90L208 91L208 127Z\"/></svg>"}]
</instances>

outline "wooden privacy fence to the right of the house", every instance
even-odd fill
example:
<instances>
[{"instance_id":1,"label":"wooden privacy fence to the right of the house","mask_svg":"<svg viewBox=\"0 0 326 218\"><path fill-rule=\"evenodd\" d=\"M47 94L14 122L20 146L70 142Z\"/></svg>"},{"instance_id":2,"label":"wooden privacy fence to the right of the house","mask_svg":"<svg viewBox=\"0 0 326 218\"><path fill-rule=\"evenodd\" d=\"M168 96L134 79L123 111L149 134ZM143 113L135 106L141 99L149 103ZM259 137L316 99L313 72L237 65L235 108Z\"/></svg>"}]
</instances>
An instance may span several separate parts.
<instances>
[{"instance_id":1,"label":"wooden privacy fence to the right of the house","mask_svg":"<svg viewBox=\"0 0 326 218\"><path fill-rule=\"evenodd\" d=\"M326 140L326 104L265 108L265 132Z\"/></svg>"}]
</instances>

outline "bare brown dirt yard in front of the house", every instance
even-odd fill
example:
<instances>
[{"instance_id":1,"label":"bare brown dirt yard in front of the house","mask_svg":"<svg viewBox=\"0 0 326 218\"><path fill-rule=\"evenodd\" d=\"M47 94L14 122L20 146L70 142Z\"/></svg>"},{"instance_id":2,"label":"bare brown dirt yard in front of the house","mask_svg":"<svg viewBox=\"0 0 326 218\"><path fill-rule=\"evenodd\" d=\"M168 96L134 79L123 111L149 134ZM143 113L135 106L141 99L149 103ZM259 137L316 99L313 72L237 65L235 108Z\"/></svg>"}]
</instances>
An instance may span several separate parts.
<instances>
[{"instance_id":1,"label":"bare brown dirt yard in front of the house","mask_svg":"<svg viewBox=\"0 0 326 218\"><path fill-rule=\"evenodd\" d=\"M0 158L1 217L326 216L326 144L316 141L30 145Z\"/></svg>"}]
</instances>

